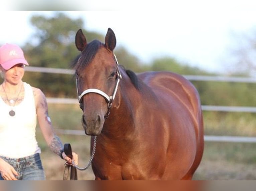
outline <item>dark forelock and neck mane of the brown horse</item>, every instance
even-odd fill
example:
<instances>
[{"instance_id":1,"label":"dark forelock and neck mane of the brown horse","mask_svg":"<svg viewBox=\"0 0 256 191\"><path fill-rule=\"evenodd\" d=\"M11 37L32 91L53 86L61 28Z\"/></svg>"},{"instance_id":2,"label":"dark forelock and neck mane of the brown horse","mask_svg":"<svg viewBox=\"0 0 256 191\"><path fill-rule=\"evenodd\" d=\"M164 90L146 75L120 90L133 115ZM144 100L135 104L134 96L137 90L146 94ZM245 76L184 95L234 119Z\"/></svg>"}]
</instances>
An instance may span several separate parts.
<instances>
[{"instance_id":1,"label":"dark forelock and neck mane of the brown horse","mask_svg":"<svg viewBox=\"0 0 256 191\"><path fill-rule=\"evenodd\" d=\"M81 73L81 71L88 66L93 58L95 57L98 49L103 45L98 40L93 40L92 42L88 43L86 45L86 48L83 50L83 52L77 56L77 58L71 63L71 67L76 70L76 74ZM134 87L139 90L140 89L140 82L138 80L137 75L131 71L131 70L126 70L123 66L122 68L126 72L126 74L129 76L131 79L132 84Z\"/></svg>"}]
</instances>

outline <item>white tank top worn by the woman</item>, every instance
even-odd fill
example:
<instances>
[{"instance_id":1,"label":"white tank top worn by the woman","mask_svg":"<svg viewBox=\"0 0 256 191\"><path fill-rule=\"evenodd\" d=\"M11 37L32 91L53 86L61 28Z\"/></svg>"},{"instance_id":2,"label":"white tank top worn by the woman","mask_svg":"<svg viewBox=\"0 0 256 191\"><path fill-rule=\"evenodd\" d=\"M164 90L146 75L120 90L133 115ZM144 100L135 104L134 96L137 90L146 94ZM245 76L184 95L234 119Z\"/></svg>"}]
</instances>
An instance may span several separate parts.
<instances>
[{"instance_id":1,"label":"white tank top worn by the woman","mask_svg":"<svg viewBox=\"0 0 256 191\"><path fill-rule=\"evenodd\" d=\"M41 153L35 138L37 115L33 90L29 84L23 84L24 99L14 106L14 116L9 115L11 106L0 96L0 155L9 158Z\"/></svg>"}]
</instances>

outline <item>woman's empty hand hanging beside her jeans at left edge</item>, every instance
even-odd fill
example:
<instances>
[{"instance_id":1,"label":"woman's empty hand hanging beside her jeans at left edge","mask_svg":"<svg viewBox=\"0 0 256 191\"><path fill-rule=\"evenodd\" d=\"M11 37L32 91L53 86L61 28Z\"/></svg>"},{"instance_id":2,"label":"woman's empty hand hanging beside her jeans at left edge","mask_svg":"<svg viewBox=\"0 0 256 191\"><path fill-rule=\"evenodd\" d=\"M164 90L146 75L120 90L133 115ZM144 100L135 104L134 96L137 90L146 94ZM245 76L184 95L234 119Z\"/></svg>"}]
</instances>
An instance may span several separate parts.
<instances>
[{"instance_id":1,"label":"woman's empty hand hanging beside her jeans at left edge","mask_svg":"<svg viewBox=\"0 0 256 191\"><path fill-rule=\"evenodd\" d=\"M3 159L0 159L0 172L4 180L18 180L17 176L19 176L19 174Z\"/></svg>"}]
</instances>

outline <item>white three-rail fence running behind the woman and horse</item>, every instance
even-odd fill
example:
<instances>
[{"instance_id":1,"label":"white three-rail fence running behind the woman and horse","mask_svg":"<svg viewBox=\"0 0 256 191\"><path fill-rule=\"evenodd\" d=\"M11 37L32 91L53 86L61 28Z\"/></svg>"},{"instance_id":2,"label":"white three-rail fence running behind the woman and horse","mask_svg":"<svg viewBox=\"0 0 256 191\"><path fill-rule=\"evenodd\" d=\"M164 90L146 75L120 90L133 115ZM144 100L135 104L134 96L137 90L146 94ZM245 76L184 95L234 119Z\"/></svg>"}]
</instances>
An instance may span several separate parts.
<instances>
[{"instance_id":1,"label":"white three-rail fence running behind the woman and horse","mask_svg":"<svg viewBox=\"0 0 256 191\"><path fill-rule=\"evenodd\" d=\"M74 75L75 71L71 69L59 68L42 68L42 67L26 67L28 72L43 72L53 74L70 74ZM183 75L190 81L215 81L215 82L237 82L237 83L256 83L256 78L243 78L243 77L226 77L226 76L195 76ZM47 98L48 103L61 103L61 104L78 104L77 99L72 98ZM242 107L242 106L217 106L217 105L202 105L205 111L225 111L225 112L252 112L256 113L256 107ZM56 129L57 133L70 134L70 135L85 135L83 130L70 130L70 129ZM244 142L256 143L256 137L243 137L243 136L204 136L205 141L214 142Z\"/></svg>"}]
</instances>

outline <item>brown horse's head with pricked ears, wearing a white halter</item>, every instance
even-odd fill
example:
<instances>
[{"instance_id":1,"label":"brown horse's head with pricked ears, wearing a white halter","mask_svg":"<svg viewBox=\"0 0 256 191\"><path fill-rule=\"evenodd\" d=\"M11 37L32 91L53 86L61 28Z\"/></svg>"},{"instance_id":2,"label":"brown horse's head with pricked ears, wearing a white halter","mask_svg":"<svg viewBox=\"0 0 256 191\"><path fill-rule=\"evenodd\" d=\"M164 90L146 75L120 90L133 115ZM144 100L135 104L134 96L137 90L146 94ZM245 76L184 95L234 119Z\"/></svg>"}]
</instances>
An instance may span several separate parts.
<instances>
[{"instance_id":1,"label":"brown horse's head with pricked ears, wearing a white halter","mask_svg":"<svg viewBox=\"0 0 256 191\"><path fill-rule=\"evenodd\" d=\"M99 135L115 98L121 74L113 53L116 37L109 28L105 44L87 43L82 30L76 34L81 55L75 63L77 93L83 110L82 124L87 135Z\"/></svg>"}]
</instances>

